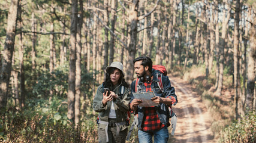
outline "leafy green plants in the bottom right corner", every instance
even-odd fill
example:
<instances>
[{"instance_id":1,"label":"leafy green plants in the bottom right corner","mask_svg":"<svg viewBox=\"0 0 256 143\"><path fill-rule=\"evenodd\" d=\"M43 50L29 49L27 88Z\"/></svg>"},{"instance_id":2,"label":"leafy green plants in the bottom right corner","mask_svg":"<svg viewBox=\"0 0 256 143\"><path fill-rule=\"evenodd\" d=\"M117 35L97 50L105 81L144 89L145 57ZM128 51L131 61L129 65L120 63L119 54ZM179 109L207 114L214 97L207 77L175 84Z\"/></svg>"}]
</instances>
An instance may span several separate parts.
<instances>
[{"instance_id":1,"label":"leafy green plants in the bottom right corner","mask_svg":"<svg viewBox=\"0 0 256 143\"><path fill-rule=\"evenodd\" d=\"M256 115L251 111L222 130L221 142L255 142Z\"/></svg>"}]
</instances>

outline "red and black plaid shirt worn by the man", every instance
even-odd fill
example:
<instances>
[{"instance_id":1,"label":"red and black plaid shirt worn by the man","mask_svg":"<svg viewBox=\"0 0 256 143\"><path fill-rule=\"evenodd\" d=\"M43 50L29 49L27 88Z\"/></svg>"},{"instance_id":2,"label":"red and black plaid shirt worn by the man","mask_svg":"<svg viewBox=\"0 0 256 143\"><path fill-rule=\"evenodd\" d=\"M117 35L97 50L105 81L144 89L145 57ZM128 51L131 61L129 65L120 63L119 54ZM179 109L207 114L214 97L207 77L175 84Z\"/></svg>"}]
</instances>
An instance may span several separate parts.
<instances>
[{"instance_id":1,"label":"red and black plaid shirt worn by the man","mask_svg":"<svg viewBox=\"0 0 256 143\"><path fill-rule=\"evenodd\" d=\"M144 82L146 91L151 91L151 83L152 80L150 82ZM141 130L143 131L159 130L164 127L164 125L160 122L154 107L144 107L143 120L144 122L141 124ZM168 123L168 125L169 124L170 123Z\"/></svg>"}]
</instances>

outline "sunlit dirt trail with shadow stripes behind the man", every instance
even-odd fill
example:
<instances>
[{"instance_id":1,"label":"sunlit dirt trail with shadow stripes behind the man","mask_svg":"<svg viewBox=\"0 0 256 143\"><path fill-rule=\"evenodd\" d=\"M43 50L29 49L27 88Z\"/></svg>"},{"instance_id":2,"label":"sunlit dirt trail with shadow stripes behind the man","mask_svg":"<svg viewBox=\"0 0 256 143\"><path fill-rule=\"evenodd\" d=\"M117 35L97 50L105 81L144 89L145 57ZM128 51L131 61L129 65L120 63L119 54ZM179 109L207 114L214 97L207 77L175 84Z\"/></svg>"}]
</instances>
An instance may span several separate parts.
<instances>
[{"instance_id":1,"label":"sunlit dirt trail with shadow stripes behind the man","mask_svg":"<svg viewBox=\"0 0 256 143\"><path fill-rule=\"evenodd\" d=\"M177 125L170 142L216 142L210 129L212 115L200 96L189 83L179 77L168 76L179 101L173 106L173 111L177 114Z\"/></svg>"}]
</instances>

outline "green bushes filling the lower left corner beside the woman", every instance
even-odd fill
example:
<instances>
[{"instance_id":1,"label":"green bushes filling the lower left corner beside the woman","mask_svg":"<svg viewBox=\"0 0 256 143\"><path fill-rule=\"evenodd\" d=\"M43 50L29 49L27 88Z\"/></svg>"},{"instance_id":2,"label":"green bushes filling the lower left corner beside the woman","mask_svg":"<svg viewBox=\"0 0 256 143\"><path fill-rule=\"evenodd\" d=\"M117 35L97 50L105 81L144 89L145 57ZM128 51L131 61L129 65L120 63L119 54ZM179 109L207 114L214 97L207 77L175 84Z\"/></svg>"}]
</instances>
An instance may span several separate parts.
<instances>
[{"instance_id":1,"label":"green bushes filling the lower left corner beside the woman","mask_svg":"<svg viewBox=\"0 0 256 143\"><path fill-rule=\"evenodd\" d=\"M97 142L94 119L72 128L64 99L33 101L23 111L9 108L0 116L0 142Z\"/></svg>"}]
</instances>

